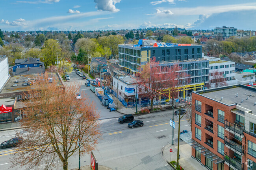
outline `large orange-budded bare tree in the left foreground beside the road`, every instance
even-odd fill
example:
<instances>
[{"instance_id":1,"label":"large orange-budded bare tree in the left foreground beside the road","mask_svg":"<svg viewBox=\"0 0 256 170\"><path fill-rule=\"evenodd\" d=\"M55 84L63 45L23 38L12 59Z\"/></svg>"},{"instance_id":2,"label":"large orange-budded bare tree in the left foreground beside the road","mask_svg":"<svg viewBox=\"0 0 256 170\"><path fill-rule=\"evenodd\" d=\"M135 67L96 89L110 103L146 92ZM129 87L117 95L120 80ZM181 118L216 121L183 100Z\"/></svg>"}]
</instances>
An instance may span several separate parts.
<instances>
[{"instance_id":1,"label":"large orange-budded bare tree in the left foreground beside the road","mask_svg":"<svg viewBox=\"0 0 256 170\"><path fill-rule=\"evenodd\" d=\"M24 118L20 121L27 133L17 133L23 143L11 159L12 166L27 169L56 169L60 161L68 169L68 159L94 150L100 137L99 115L86 95L76 99L79 86L60 86L60 81L49 82L50 74L39 75L22 104ZM25 95L25 94L24 94ZM24 98L25 99L25 98Z\"/></svg>"}]
</instances>

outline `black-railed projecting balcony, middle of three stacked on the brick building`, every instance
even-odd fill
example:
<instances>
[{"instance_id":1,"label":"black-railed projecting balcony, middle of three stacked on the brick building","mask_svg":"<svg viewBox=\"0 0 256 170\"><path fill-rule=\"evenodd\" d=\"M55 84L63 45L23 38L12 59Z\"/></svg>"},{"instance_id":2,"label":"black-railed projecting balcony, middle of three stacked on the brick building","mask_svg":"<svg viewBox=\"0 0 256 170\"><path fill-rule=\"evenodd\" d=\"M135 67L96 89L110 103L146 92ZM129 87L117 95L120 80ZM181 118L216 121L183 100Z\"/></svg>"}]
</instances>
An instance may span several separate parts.
<instances>
[{"instance_id":1,"label":"black-railed projecting balcony, middle of three stacked on the brick building","mask_svg":"<svg viewBox=\"0 0 256 170\"><path fill-rule=\"evenodd\" d=\"M244 146L242 145L242 142L241 141L238 141L237 139L228 139L226 136L225 136L225 146L230 148L231 150L233 150L235 153L243 156L244 155Z\"/></svg>"}]
</instances>

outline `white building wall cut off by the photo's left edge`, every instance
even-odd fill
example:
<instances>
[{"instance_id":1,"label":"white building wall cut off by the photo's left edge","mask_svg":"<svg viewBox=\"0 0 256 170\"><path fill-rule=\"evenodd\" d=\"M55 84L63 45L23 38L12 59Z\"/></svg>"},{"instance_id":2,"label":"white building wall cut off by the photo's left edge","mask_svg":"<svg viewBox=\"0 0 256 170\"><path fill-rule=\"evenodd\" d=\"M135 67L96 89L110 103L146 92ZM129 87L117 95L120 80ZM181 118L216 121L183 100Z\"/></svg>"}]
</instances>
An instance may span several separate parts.
<instances>
[{"instance_id":1,"label":"white building wall cut off by the photo's left edge","mask_svg":"<svg viewBox=\"0 0 256 170\"><path fill-rule=\"evenodd\" d=\"M6 84L7 80L9 79L9 64L8 64L8 58L6 55L2 56L0 55L0 91L4 87L4 84Z\"/></svg>"}]
</instances>

